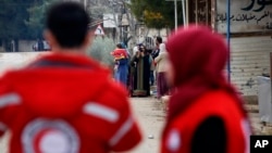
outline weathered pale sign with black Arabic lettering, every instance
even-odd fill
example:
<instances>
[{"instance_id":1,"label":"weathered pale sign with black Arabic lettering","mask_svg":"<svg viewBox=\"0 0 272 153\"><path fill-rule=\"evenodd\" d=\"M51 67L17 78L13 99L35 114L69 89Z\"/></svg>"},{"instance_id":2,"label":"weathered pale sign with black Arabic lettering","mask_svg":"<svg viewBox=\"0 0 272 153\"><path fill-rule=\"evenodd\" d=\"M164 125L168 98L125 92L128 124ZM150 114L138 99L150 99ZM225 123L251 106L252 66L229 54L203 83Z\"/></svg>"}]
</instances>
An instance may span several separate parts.
<instances>
[{"instance_id":1,"label":"weathered pale sign with black Arabic lettering","mask_svg":"<svg viewBox=\"0 0 272 153\"><path fill-rule=\"evenodd\" d=\"M217 2L217 27L226 33L226 1ZM231 0L232 33L272 31L272 0Z\"/></svg>"}]
</instances>

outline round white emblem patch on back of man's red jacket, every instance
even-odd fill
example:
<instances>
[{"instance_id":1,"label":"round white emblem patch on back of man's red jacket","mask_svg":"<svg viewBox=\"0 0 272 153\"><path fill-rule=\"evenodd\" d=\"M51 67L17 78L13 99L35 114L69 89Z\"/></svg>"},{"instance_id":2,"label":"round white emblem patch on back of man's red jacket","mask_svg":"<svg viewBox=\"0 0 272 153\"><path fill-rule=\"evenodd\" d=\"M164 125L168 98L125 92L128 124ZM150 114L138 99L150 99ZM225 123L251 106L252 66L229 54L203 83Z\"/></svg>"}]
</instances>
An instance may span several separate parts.
<instances>
[{"instance_id":1,"label":"round white emblem patch on back of man's red jacket","mask_svg":"<svg viewBox=\"0 0 272 153\"><path fill-rule=\"evenodd\" d=\"M25 153L77 153L79 139L64 120L36 119L23 131Z\"/></svg>"}]
</instances>

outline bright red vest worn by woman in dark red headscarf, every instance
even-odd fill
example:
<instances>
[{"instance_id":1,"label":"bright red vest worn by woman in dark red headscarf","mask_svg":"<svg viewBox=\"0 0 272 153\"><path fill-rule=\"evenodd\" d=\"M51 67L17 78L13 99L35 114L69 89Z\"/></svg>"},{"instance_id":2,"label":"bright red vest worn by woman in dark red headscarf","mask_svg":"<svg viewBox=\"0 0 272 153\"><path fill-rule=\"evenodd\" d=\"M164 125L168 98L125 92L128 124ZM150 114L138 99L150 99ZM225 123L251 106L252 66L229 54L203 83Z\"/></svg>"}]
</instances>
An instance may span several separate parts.
<instances>
[{"instance_id":1,"label":"bright red vest worn by woman in dark red headscarf","mask_svg":"<svg viewBox=\"0 0 272 153\"><path fill-rule=\"evenodd\" d=\"M199 98L170 123L163 136L161 153L189 153L195 131L210 116L218 116L224 122L227 153L248 153L249 122L235 102L223 91L212 91Z\"/></svg>"}]
</instances>

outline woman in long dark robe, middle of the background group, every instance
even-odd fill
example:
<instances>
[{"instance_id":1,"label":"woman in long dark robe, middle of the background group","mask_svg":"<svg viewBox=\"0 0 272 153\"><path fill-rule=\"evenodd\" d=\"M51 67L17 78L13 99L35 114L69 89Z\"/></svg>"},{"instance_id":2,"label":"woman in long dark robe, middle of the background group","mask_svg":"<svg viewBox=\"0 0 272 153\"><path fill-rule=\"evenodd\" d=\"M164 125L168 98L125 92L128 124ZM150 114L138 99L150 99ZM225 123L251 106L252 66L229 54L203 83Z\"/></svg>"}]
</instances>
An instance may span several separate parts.
<instances>
[{"instance_id":1,"label":"woman in long dark robe, middle of the background group","mask_svg":"<svg viewBox=\"0 0 272 153\"><path fill-rule=\"evenodd\" d=\"M131 65L134 68L132 95L150 95L150 55L147 53L145 46L139 46L138 51L131 61Z\"/></svg>"}]
</instances>

